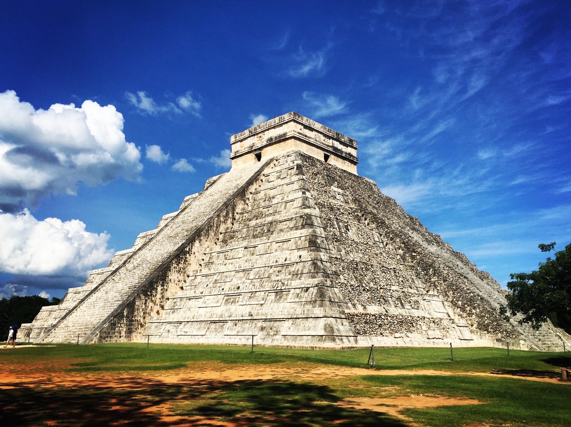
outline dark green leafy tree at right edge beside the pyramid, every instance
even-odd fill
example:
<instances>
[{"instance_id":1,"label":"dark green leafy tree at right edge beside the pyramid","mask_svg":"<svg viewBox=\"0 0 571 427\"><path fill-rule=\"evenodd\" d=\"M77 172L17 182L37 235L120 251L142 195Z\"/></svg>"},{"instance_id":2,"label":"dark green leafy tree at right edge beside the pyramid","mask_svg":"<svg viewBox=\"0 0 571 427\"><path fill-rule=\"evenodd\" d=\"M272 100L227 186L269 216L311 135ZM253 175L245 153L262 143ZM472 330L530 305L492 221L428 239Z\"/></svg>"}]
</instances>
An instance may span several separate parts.
<instances>
[{"instance_id":1,"label":"dark green leafy tree at right edge beside the pyramid","mask_svg":"<svg viewBox=\"0 0 571 427\"><path fill-rule=\"evenodd\" d=\"M555 245L552 242L538 247L541 252L550 252ZM506 296L507 306L500 308L501 314L521 313L520 324L529 323L536 330L549 319L558 328L571 332L571 243L556 252L554 258L540 262L537 270L509 276L511 293Z\"/></svg>"}]
</instances>

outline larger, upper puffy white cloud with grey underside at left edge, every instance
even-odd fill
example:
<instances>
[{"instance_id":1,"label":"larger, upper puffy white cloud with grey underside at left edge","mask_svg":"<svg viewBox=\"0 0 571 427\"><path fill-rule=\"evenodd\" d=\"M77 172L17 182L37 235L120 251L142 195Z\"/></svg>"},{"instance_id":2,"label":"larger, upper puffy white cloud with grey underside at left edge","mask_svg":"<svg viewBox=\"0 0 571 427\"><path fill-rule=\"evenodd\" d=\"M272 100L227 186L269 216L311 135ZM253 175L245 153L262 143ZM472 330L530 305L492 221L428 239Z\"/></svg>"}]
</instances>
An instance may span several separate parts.
<instances>
[{"instance_id":1,"label":"larger, upper puffy white cloud with grey underside at left edge","mask_svg":"<svg viewBox=\"0 0 571 427\"><path fill-rule=\"evenodd\" d=\"M21 211L52 194L75 194L79 181L106 184L137 179L139 149L125 140L114 106L85 101L47 110L0 93L0 210Z\"/></svg>"}]
</instances>

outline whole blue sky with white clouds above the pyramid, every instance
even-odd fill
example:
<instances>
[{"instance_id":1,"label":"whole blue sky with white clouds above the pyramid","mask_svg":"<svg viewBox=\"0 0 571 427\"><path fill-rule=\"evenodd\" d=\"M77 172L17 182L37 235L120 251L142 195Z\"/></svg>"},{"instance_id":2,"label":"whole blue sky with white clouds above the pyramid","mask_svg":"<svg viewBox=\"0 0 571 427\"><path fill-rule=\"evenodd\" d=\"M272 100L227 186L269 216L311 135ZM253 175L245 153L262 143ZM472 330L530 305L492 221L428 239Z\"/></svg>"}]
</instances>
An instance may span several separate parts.
<instances>
[{"instance_id":1,"label":"whole blue sky with white clouds above the pyramid","mask_svg":"<svg viewBox=\"0 0 571 427\"><path fill-rule=\"evenodd\" d=\"M569 2L0 9L5 296L81 285L288 111L502 285L571 241Z\"/></svg>"}]
</instances>

